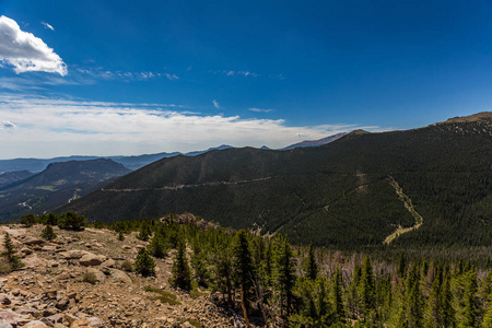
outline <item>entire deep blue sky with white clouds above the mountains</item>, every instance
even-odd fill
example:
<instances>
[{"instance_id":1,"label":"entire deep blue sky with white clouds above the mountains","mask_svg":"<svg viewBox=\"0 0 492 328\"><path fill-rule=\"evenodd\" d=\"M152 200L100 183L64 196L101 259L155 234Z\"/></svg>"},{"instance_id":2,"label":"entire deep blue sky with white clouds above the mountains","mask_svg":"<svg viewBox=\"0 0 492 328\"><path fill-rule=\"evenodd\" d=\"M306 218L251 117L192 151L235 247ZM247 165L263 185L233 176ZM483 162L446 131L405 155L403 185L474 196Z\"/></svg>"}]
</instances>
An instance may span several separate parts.
<instances>
[{"instance_id":1,"label":"entire deep blue sky with white clouds above the mountains","mask_svg":"<svg viewBox=\"0 0 492 328\"><path fill-rule=\"evenodd\" d=\"M281 148L492 108L490 0L2 0L0 15L0 159Z\"/></svg>"}]
</instances>

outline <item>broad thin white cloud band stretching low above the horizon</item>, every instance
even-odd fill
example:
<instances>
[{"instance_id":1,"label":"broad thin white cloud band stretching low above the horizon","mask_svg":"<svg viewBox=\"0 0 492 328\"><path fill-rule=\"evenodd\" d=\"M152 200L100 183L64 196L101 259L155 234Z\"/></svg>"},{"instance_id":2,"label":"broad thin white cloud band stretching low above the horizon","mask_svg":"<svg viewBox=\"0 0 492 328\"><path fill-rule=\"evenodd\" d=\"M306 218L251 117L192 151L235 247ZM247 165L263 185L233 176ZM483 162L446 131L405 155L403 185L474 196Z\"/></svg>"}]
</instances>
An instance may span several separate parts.
<instances>
[{"instance_id":1,"label":"broad thin white cloud band stretching low above the horizon","mask_svg":"<svg viewBox=\"0 0 492 328\"><path fill-rule=\"evenodd\" d=\"M165 107L166 106L166 107ZM173 107L174 106L174 107ZM218 144L283 148L298 137L321 139L358 125L289 126L179 110L180 105L102 103L0 94L0 157L116 155L192 151ZM16 129L8 128L9 124Z\"/></svg>"}]
</instances>

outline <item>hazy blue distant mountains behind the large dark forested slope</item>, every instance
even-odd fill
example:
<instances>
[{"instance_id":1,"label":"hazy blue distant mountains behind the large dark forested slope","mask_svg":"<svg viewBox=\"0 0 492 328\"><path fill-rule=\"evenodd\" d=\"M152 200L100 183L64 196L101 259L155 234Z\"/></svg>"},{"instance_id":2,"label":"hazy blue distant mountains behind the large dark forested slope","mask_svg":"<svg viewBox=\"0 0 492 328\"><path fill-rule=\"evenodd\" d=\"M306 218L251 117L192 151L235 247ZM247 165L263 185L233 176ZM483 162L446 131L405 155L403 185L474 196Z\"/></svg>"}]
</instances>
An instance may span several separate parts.
<instances>
[{"instance_id":1,"label":"hazy blue distant mountains behind the large dark forested slope","mask_svg":"<svg viewBox=\"0 0 492 328\"><path fill-rule=\"evenodd\" d=\"M312 141L309 144L327 143L332 140L335 138L328 137ZM125 175L131 169L138 169L164 157L198 156L210 151L231 148L231 145L223 144L186 154L175 152L139 156L112 156L108 159L67 156L49 160L16 159L0 161L0 168L2 169L24 169L0 174L0 221L15 220L27 212L42 214L47 209L62 206L95 190L108 179ZM47 167L38 174L26 171L37 171L45 166Z\"/></svg>"}]
</instances>

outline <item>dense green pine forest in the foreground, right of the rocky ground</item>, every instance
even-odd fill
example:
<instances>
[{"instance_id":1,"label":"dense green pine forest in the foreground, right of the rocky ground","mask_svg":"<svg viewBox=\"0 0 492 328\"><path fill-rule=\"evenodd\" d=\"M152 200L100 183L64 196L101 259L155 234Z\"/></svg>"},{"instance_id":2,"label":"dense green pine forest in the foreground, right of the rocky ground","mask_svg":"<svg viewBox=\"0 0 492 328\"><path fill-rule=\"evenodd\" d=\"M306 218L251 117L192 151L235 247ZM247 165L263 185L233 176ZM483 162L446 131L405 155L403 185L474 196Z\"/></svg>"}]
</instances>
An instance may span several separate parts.
<instances>
[{"instance_id":1,"label":"dense green pine forest in the foreground, right of the rocky ground","mask_svg":"<svg viewBox=\"0 0 492 328\"><path fill-rule=\"evenodd\" d=\"M274 327L492 327L492 274L471 262L410 260L291 245L200 224L139 220L110 226L149 241L138 271L174 251L172 285L218 292L245 320ZM153 255L153 258L150 257ZM150 270L140 271L143 267Z\"/></svg>"}]
</instances>

